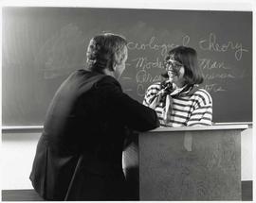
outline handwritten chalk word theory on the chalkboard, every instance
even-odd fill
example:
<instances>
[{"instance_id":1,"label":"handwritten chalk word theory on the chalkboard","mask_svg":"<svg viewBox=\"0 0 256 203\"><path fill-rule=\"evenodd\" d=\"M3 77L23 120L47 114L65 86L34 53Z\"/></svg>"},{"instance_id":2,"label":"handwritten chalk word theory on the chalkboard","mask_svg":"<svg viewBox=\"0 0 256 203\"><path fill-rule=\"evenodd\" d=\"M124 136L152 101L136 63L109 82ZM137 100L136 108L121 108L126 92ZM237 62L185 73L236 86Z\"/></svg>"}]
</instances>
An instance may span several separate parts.
<instances>
[{"instance_id":1,"label":"handwritten chalk word theory on the chalkboard","mask_svg":"<svg viewBox=\"0 0 256 203\"><path fill-rule=\"evenodd\" d=\"M243 44L239 42L225 42L219 43L216 40L216 35L210 33L208 39L203 39L199 41L199 47L204 51L214 51L214 52L227 52L229 50L234 51L235 59L240 60L243 57L243 52L248 50L243 48Z\"/></svg>"}]
</instances>

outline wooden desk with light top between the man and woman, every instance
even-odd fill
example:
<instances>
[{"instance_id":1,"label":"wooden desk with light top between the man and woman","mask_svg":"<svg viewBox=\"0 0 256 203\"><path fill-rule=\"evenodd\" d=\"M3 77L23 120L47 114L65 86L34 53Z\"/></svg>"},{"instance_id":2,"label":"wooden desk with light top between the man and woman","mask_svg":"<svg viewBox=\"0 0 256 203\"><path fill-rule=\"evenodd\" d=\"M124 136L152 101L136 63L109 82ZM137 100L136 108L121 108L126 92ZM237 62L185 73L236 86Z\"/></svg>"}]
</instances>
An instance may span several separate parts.
<instances>
[{"instance_id":1,"label":"wooden desk with light top between the man and woman","mask_svg":"<svg viewBox=\"0 0 256 203\"><path fill-rule=\"evenodd\" d=\"M159 127L141 133L139 200L241 200L246 128Z\"/></svg>"}]
</instances>

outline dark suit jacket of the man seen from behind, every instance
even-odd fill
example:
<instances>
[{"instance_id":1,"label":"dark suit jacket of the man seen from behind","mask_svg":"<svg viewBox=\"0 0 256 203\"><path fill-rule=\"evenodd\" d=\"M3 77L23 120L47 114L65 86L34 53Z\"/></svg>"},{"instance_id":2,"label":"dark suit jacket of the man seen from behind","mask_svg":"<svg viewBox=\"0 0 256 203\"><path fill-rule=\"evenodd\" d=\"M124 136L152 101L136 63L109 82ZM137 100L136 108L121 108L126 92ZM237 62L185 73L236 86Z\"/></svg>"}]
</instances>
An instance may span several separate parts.
<instances>
[{"instance_id":1,"label":"dark suit jacket of the man seen from behind","mask_svg":"<svg viewBox=\"0 0 256 203\"><path fill-rule=\"evenodd\" d=\"M158 126L155 110L122 93L114 77L76 71L47 110L32 185L47 200L125 200L126 130Z\"/></svg>"}]
</instances>

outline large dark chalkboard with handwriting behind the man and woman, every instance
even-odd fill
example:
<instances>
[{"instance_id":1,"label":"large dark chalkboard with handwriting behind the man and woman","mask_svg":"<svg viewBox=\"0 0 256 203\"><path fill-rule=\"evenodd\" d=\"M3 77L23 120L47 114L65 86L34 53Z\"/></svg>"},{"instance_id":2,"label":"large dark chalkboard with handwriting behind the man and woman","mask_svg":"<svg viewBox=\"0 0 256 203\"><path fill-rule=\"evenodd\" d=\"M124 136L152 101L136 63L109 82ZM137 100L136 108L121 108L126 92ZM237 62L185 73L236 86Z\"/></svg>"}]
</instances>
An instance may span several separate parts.
<instances>
[{"instance_id":1,"label":"large dark chalkboard with handwriting behind the man and woman","mask_svg":"<svg viewBox=\"0 0 256 203\"><path fill-rule=\"evenodd\" d=\"M42 125L53 94L84 67L89 40L102 32L126 37L120 83L137 101L163 79L166 52L186 45L197 50L213 121L252 121L250 11L7 7L2 15L4 126Z\"/></svg>"}]
</instances>

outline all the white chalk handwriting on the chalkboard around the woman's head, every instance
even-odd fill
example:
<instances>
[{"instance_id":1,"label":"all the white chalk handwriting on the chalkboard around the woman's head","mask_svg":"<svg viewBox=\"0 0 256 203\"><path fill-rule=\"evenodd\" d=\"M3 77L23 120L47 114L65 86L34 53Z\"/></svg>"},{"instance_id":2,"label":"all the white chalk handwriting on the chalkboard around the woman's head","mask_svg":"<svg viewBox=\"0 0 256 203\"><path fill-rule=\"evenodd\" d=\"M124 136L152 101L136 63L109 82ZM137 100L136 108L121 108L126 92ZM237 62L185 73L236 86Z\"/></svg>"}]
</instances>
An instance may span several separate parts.
<instances>
[{"instance_id":1,"label":"all the white chalk handwriting on the chalkboard around the woman's head","mask_svg":"<svg viewBox=\"0 0 256 203\"><path fill-rule=\"evenodd\" d=\"M243 53L248 50L242 43L238 42L216 42L217 35L210 33L207 37L208 40L200 40L198 47L203 51L210 52L230 52L234 55L235 60L241 60ZM191 37L186 34L180 44L190 45ZM174 43L159 43L159 40L152 36L148 42L128 42L128 49L130 51L139 51L137 58L129 59L126 64L129 68L132 67L136 70L135 81L137 82L137 90L126 89L125 91L136 91L137 96L144 96L145 90L149 84L162 81L161 73L164 72L163 59L167 55L167 52L179 44ZM148 57L148 51L155 52L154 57ZM143 55L144 53L144 55ZM241 69L239 72L233 70L230 65L226 65L224 61L218 61L215 59L200 58L198 59L198 65L202 69L205 83L203 88L210 93L225 92L228 91L224 86L223 80L235 80L236 78L242 78L245 70ZM130 78L132 79L132 78Z\"/></svg>"}]
</instances>

